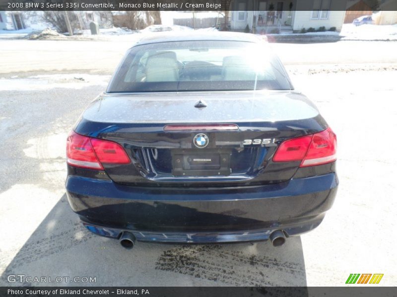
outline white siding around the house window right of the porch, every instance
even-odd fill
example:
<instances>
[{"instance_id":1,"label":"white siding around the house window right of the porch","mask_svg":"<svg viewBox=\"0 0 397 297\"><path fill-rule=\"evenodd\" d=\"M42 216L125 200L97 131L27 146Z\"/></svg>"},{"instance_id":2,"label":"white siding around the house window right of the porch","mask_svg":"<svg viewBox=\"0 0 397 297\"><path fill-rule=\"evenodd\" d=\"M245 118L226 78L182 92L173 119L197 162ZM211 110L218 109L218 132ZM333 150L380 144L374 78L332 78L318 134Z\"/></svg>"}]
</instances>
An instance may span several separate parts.
<instances>
[{"instance_id":1,"label":"white siding around the house window right of the porch","mask_svg":"<svg viewBox=\"0 0 397 297\"><path fill-rule=\"evenodd\" d=\"M308 29L312 27L318 29L324 26L326 30L335 27L336 31L340 31L342 29L345 13L346 11L344 10L331 10L327 19L312 19L312 11L295 11L292 29L294 31L300 31L302 28Z\"/></svg>"}]
</instances>

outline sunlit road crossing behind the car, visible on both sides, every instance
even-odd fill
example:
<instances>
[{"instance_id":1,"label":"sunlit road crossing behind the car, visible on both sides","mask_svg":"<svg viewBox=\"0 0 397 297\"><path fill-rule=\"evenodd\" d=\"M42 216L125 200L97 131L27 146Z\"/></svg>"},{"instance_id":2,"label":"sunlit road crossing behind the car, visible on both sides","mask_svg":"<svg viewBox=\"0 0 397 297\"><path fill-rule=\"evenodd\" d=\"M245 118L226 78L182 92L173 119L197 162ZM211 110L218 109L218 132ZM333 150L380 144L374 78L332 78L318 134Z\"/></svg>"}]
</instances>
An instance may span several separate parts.
<instances>
[{"instance_id":1,"label":"sunlit road crossing behind the car, visible on both sides","mask_svg":"<svg viewBox=\"0 0 397 297\"><path fill-rule=\"evenodd\" d=\"M0 76L78 70L112 74L125 51L139 36L123 36L113 42L0 40ZM397 63L397 42L270 45L286 65Z\"/></svg>"}]
</instances>

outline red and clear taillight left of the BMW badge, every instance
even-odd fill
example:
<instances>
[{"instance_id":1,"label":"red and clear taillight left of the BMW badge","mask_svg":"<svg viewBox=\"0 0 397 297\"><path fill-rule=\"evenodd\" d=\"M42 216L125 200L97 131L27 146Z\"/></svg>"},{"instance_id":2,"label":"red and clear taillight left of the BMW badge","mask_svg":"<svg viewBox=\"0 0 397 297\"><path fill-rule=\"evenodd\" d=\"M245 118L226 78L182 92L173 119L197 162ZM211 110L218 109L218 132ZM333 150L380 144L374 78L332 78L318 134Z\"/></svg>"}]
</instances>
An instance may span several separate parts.
<instances>
[{"instance_id":1,"label":"red and clear taillight left of the BMW badge","mask_svg":"<svg viewBox=\"0 0 397 297\"><path fill-rule=\"evenodd\" d=\"M128 164L130 158L118 143L71 132L66 142L67 164L102 170L102 163Z\"/></svg>"}]
</instances>

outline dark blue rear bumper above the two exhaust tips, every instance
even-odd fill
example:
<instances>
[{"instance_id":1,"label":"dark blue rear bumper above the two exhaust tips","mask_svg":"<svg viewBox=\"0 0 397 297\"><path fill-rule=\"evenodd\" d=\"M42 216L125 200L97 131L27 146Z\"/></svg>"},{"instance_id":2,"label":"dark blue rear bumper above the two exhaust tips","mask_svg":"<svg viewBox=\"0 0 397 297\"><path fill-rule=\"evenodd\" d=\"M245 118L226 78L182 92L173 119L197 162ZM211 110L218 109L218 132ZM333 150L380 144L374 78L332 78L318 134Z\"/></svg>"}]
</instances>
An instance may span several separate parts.
<instances>
[{"instance_id":1,"label":"dark blue rear bumper above the two exhaust tips","mask_svg":"<svg viewBox=\"0 0 397 297\"><path fill-rule=\"evenodd\" d=\"M156 188L69 175L66 194L88 230L157 242L236 242L316 228L336 195L336 174L230 188Z\"/></svg>"}]
</instances>

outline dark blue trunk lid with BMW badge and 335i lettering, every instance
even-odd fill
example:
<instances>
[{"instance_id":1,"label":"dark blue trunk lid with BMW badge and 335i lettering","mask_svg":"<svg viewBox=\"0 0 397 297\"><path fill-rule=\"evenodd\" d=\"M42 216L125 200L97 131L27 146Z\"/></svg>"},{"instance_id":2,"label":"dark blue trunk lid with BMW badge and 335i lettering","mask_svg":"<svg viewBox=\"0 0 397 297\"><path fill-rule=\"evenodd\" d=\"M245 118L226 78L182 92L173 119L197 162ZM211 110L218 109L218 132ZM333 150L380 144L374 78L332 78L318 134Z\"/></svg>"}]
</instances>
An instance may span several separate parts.
<instances>
[{"instance_id":1,"label":"dark blue trunk lid with BMW badge and 335i lettering","mask_svg":"<svg viewBox=\"0 0 397 297\"><path fill-rule=\"evenodd\" d=\"M277 146L326 127L299 93L251 91L104 94L75 130L126 149L131 164L104 164L115 182L216 186L290 179L299 162L272 162Z\"/></svg>"}]
</instances>

